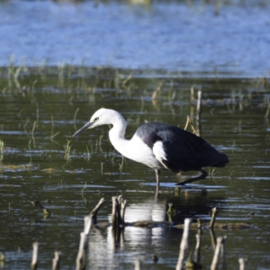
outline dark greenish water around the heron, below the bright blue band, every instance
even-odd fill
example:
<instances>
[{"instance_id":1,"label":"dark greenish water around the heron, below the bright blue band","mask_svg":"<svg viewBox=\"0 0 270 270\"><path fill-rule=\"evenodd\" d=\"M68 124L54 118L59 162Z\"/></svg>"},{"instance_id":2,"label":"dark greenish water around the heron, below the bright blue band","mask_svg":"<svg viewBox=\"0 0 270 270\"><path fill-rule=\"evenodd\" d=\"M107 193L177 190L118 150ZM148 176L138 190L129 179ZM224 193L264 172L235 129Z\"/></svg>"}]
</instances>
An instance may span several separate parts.
<instances>
[{"instance_id":1,"label":"dark greenish water around the heron, below the bright blue band","mask_svg":"<svg viewBox=\"0 0 270 270\"><path fill-rule=\"evenodd\" d=\"M83 71L89 76L82 76ZM217 206L218 221L254 224L254 229L216 229L215 236L227 235L228 269L238 269L238 257L247 257L247 269L269 269L269 81L130 76L129 71L110 69L69 75L40 73L1 81L0 251L6 257L2 268L29 268L31 244L37 240L39 269L51 267L55 250L62 252L61 269L74 269L84 216L104 197L98 220L108 220L112 196L122 194L129 204L126 221L168 220L166 210L173 202L180 211L173 217L177 223L185 217L210 220L211 208ZM157 99L152 100L157 87ZM129 120L127 138L145 121L184 127L190 115L195 126L191 87L195 94L202 89L202 137L226 153L230 163L210 170L207 179L180 193L175 193L174 184L194 173L164 172L161 193L155 197L150 168L124 160L120 169L122 158L109 142L109 127L85 131L69 142L69 153L65 151L74 131L102 106ZM51 215L44 217L32 201L40 201ZM175 268L182 232L170 226L127 227L118 240L111 227L93 228L86 269L132 269L136 258L146 269ZM193 258L196 233L190 232L185 259L188 254ZM213 256L207 229L201 240L201 264L207 269ZM157 263L153 255L159 258Z\"/></svg>"}]
</instances>

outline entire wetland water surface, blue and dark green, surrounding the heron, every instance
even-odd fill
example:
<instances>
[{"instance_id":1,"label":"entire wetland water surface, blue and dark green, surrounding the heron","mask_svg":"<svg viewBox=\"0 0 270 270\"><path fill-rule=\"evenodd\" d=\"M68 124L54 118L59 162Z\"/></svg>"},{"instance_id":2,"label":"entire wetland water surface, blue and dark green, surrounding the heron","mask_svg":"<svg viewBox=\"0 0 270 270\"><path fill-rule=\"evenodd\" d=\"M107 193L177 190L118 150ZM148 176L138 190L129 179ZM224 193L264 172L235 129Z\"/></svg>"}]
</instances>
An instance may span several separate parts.
<instances>
[{"instance_id":1,"label":"entire wetland water surface, blue and dark green, surrounding the heron","mask_svg":"<svg viewBox=\"0 0 270 270\"><path fill-rule=\"evenodd\" d=\"M208 222L213 207L217 222L254 227L202 229L203 269L220 236L227 269L238 257L247 270L270 269L269 1L130 2L0 1L0 268L29 269L38 241L39 269L51 269L55 250L61 269L75 269L85 215L104 198L97 222L110 220L112 196L122 194L127 222L157 226L117 236L92 228L85 269L134 269L138 258L143 269L175 269L175 225ZM71 139L101 107L129 121L128 139L146 121L184 128L189 116L197 130L200 89L200 134L229 164L179 191L175 183L196 172L162 172L156 194L153 170L114 151L107 126ZM195 259L197 233L184 262Z\"/></svg>"}]
</instances>

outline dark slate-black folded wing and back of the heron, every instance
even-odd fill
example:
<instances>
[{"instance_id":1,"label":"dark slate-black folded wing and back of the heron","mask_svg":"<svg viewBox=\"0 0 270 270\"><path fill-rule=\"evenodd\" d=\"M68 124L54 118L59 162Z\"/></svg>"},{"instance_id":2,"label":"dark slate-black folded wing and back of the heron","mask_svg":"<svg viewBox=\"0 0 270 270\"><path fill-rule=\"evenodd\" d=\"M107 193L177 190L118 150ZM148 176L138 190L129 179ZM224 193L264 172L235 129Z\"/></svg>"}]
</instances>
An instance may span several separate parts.
<instances>
[{"instance_id":1,"label":"dark slate-black folded wing and back of the heron","mask_svg":"<svg viewBox=\"0 0 270 270\"><path fill-rule=\"evenodd\" d=\"M166 152L163 163L175 173L200 170L203 166L225 166L229 162L226 155L207 141L175 126L151 122L139 127L137 134L150 148L157 140L163 142Z\"/></svg>"}]
</instances>

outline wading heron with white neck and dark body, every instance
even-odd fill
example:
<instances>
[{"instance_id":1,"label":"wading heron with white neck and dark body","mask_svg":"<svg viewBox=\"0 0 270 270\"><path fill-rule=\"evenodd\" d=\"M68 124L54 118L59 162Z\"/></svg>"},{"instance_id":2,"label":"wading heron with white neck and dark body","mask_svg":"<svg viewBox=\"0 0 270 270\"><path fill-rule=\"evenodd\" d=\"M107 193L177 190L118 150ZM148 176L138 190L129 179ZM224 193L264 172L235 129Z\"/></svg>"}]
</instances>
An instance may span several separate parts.
<instances>
[{"instance_id":1,"label":"wading heron with white neck and dark body","mask_svg":"<svg viewBox=\"0 0 270 270\"><path fill-rule=\"evenodd\" d=\"M207 172L204 166L225 166L229 158L219 153L201 137L186 130L162 122L148 122L139 127L131 139L125 139L127 122L119 112L110 109L100 109L94 112L81 129L73 135L86 129L93 129L104 124L112 124L109 137L112 146L134 161L153 168L157 176L157 190L161 170L201 171L202 175L193 177L177 184L187 184L204 179Z\"/></svg>"}]
</instances>

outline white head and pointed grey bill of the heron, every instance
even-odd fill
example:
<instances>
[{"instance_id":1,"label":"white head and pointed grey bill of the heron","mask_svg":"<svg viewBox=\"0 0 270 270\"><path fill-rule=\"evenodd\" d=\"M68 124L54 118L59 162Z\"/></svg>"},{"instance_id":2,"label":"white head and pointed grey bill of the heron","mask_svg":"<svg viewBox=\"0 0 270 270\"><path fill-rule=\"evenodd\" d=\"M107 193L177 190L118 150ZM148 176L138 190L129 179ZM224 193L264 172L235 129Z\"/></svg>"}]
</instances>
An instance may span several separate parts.
<instances>
[{"instance_id":1,"label":"white head and pointed grey bill of the heron","mask_svg":"<svg viewBox=\"0 0 270 270\"><path fill-rule=\"evenodd\" d=\"M76 136L78 133L81 133L84 130L94 129L97 126L105 124L113 124L115 118L119 117L119 115L121 116L119 112L110 109L99 109L98 111L94 112L90 121L86 122L85 125L79 130L76 130L72 137Z\"/></svg>"}]
</instances>

